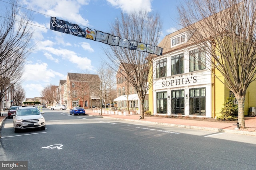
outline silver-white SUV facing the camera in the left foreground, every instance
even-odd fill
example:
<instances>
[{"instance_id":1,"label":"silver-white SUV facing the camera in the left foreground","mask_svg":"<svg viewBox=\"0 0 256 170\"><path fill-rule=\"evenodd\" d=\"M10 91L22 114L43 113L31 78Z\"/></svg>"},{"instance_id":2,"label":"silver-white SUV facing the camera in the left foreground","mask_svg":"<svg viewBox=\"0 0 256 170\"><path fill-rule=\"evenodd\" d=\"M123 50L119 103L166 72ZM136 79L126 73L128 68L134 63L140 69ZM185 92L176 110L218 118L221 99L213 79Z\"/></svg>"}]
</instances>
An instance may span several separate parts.
<instances>
[{"instance_id":1,"label":"silver-white SUV facing the camera in the left foreground","mask_svg":"<svg viewBox=\"0 0 256 170\"><path fill-rule=\"evenodd\" d=\"M45 129L45 120L37 107L18 107L16 113L12 114L14 132L21 129L40 128Z\"/></svg>"}]
</instances>

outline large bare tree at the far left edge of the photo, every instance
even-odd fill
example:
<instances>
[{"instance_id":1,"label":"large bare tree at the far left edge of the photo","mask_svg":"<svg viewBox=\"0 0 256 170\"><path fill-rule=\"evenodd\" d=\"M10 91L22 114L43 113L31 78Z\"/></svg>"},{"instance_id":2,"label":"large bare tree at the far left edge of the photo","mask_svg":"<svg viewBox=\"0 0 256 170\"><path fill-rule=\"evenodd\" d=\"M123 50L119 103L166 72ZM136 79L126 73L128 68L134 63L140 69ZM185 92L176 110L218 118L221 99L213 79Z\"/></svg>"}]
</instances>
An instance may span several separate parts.
<instances>
[{"instance_id":1,"label":"large bare tree at the far left edge of the photo","mask_svg":"<svg viewBox=\"0 0 256 170\"><path fill-rule=\"evenodd\" d=\"M31 51L29 41L33 32L29 27L30 15L21 13L18 1L6 6L0 18L0 101L14 83L18 83L24 62Z\"/></svg>"}]
</instances>

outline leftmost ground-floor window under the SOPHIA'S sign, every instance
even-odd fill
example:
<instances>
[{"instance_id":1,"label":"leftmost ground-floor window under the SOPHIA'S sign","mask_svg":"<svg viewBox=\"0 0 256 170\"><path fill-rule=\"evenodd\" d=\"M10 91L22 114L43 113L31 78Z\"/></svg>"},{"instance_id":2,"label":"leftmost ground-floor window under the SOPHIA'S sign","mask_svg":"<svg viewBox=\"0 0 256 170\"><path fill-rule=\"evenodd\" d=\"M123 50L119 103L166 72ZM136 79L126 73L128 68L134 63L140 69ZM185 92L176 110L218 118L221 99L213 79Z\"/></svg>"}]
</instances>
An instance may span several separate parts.
<instances>
[{"instance_id":1,"label":"leftmost ground-floor window under the SOPHIA'S sign","mask_svg":"<svg viewBox=\"0 0 256 170\"><path fill-rule=\"evenodd\" d=\"M156 93L156 113L167 114L167 92Z\"/></svg>"}]
</instances>

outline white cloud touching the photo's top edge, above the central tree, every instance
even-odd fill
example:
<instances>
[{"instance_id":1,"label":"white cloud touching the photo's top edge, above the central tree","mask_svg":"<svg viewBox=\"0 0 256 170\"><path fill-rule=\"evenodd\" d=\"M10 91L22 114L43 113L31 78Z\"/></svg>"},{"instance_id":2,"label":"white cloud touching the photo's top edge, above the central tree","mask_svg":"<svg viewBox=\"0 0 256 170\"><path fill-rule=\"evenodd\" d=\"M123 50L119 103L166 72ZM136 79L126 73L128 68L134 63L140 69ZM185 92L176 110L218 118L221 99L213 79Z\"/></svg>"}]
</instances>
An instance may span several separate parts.
<instances>
[{"instance_id":1,"label":"white cloud touching the photo's top edge, above the central tree","mask_svg":"<svg viewBox=\"0 0 256 170\"><path fill-rule=\"evenodd\" d=\"M120 8L123 12L130 13L134 10L151 12L152 0L107 0L112 6Z\"/></svg>"}]
</instances>

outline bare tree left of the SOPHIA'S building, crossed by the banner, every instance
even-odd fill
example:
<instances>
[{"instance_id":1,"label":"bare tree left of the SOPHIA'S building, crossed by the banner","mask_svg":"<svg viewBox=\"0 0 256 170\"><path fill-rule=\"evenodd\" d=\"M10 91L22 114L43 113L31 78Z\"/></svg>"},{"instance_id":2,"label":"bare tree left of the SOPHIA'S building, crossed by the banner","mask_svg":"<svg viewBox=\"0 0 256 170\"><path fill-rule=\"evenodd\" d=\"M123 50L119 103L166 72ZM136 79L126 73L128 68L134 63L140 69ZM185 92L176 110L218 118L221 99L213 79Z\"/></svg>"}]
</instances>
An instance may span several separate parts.
<instances>
[{"instance_id":1,"label":"bare tree left of the SOPHIA'S building, crossed by the banner","mask_svg":"<svg viewBox=\"0 0 256 170\"><path fill-rule=\"evenodd\" d=\"M121 18L113 23L111 33L129 40L157 45L161 30L162 22L157 14L139 11L131 14L122 13ZM144 100L148 89L152 86L150 75L153 75L149 53L118 46L110 46L110 49L105 49L108 59L112 62L112 65L109 65L116 71L122 66L121 74L124 74L126 80L138 92L140 114L144 119Z\"/></svg>"}]
</instances>

